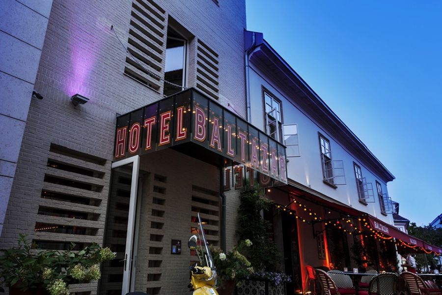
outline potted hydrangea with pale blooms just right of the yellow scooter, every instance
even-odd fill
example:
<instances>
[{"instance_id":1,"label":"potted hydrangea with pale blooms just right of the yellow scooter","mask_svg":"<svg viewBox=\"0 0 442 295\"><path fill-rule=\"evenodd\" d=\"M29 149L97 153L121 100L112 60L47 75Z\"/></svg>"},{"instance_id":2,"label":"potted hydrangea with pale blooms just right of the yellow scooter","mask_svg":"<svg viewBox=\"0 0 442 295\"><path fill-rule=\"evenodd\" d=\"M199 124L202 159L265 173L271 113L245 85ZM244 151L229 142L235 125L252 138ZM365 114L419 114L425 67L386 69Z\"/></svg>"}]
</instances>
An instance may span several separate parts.
<instances>
[{"instance_id":1,"label":"potted hydrangea with pale blooms just right of the yellow scooter","mask_svg":"<svg viewBox=\"0 0 442 295\"><path fill-rule=\"evenodd\" d=\"M244 255L251 245L252 242L249 239L242 240L226 253L219 247L210 247L214 264L217 267L217 287L220 295L231 295L235 285L254 272L249 260Z\"/></svg>"}]
</instances>

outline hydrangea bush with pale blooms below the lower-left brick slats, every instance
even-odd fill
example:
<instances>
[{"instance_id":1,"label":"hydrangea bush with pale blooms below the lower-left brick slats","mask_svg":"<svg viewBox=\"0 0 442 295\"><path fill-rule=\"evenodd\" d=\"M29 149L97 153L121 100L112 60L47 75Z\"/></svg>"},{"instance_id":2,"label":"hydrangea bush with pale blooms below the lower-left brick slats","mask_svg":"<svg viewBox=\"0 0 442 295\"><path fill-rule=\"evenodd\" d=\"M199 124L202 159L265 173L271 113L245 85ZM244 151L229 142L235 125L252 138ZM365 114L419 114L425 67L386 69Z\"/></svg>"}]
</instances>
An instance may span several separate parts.
<instances>
[{"instance_id":1,"label":"hydrangea bush with pale blooms below the lower-left brick slats","mask_svg":"<svg viewBox=\"0 0 442 295\"><path fill-rule=\"evenodd\" d=\"M69 284L98 280L100 263L115 258L109 248L96 243L81 251L38 250L20 235L17 248L1 250L0 285L9 294L68 295Z\"/></svg>"}]
</instances>

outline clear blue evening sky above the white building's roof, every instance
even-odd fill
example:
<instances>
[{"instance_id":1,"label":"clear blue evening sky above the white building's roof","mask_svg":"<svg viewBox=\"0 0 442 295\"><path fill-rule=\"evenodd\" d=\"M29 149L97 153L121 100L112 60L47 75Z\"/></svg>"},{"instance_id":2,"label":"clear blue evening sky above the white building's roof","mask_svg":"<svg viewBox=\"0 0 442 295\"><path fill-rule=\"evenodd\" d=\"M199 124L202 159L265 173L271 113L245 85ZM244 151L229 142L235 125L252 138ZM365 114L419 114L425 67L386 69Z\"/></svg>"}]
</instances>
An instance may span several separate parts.
<instances>
[{"instance_id":1,"label":"clear blue evening sky above the white building's roof","mask_svg":"<svg viewBox=\"0 0 442 295\"><path fill-rule=\"evenodd\" d=\"M246 4L247 29L263 32L396 177L388 193L399 213L417 225L441 214L442 1Z\"/></svg>"}]
</instances>

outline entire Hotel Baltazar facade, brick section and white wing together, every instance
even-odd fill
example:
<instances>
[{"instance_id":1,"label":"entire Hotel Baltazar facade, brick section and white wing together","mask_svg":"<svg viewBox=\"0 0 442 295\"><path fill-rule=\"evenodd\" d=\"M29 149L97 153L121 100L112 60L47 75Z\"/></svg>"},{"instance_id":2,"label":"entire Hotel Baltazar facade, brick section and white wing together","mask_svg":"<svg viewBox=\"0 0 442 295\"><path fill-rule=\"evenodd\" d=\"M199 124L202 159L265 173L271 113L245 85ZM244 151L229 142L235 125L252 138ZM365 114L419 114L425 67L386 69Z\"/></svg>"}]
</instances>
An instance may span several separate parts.
<instances>
[{"instance_id":1,"label":"entire Hotel Baltazar facade, brick section and white wing together","mask_svg":"<svg viewBox=\"0 0 442 295\"><path fill-rule=\"evenodd\" d=\"M349 249L367 234L430 251L395 232L393 175L246 30L244 1L6 5L0 247L28 234L117 252L71 292L188 294L196 214L230 249L246 185L275 202L263 215L287 294L309 290L307 265L358 267Z\"/></svg>"}]
</instances>

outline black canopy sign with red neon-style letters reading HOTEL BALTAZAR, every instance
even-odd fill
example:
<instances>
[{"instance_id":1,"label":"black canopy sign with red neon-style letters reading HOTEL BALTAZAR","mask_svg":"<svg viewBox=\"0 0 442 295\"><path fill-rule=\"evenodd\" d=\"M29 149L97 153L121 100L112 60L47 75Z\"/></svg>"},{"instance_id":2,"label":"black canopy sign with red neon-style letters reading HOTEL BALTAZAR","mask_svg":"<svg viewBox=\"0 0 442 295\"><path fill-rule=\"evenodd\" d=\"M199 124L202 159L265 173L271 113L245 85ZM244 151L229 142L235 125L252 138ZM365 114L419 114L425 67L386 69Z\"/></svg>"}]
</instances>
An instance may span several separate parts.
<instances>
[{"instance_id":1,"label":"black canopy sign with red neon-style letters reading HOTEL BALTAZAR","mask_svg":"<svg viewBox=\"0 0 442 295\"><path fill-rule=\"evenodd\" d=\"M242 175L252 180L259 175L264 184L270 179L287 183L285 147L194 89L117 117L113 157L120 160L188 142L231 160L232 177L241 167Z\"/></svg>"}]
</instances>

